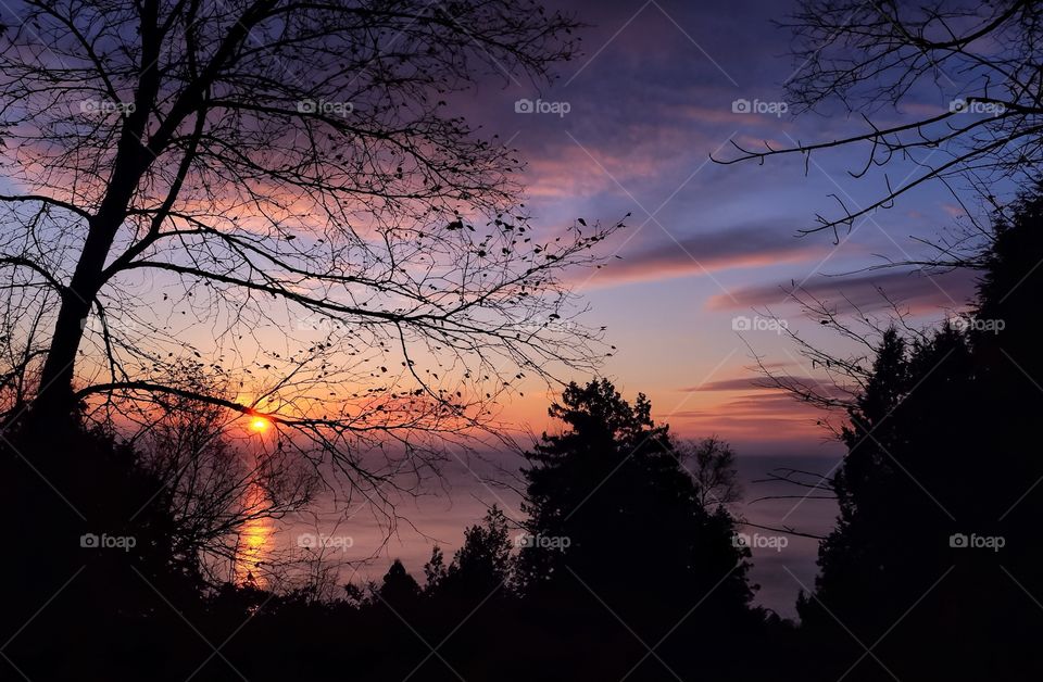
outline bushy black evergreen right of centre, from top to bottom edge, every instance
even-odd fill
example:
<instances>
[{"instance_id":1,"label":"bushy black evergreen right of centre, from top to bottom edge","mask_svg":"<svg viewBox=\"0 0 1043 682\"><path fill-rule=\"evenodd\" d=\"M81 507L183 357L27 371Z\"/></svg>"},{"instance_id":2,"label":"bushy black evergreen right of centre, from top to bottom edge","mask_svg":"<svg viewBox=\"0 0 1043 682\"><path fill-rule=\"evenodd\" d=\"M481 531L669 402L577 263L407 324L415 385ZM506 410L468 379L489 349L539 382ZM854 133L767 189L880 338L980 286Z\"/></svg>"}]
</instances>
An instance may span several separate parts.
<instances>
[{"instance_id":1,"label":"bushy black evergreen right of centre, from top to bottom edge","mask_svg":"<svg viewBox=\"0 0 1043 682\"><path fill-rule=\"evenodd\" d=\"M527 454L520 584L546 609L548 632L586 631L580 651L604 637L611 653L595 677L631 666L652 679L666 674L662 660L634 647L633 633L659 642L663 659L679 669L694 673L688 666L699 659L703 672L724 674L725 641L753 622L749 550L734 542L724 506L703 506L668 427L651 411L643 394L631 405L604 379L569 384L551 406L566 428L544 433Z\"/></svg>"}]
</instances>

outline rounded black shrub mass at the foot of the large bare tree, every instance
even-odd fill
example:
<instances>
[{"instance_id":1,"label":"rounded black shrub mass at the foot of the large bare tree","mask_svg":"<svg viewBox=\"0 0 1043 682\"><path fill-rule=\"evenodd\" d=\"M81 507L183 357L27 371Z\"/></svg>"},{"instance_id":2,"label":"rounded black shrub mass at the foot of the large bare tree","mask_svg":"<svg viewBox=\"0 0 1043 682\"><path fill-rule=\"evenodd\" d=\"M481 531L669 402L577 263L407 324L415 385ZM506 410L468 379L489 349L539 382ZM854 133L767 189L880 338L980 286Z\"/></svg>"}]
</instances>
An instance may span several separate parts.
<instances>
[{"instance_id":1,"label":"rounded black shrub mass at the foot of the large bare tree","mask_svg":"<svg viewBox=\"0 0 1043 682\"><path fill-rule=\"evenodd\" d=\"M178 615L202 620L200 545L140 451L101 429L63 442L77 456L46 475L0 444L0 498L18 519L17 551L0 563L0 677L166 679L164 657L201 643L186 642Z\"/></svg>"}]
</instances>

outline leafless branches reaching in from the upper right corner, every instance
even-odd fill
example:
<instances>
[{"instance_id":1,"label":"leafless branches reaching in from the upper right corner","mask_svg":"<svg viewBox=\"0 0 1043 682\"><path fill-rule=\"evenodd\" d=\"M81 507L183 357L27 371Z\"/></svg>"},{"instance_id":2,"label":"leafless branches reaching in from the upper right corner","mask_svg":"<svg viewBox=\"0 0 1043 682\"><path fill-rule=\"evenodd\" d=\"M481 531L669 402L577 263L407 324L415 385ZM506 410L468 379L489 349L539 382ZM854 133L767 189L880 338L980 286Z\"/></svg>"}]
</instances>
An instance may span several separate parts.
<instances>
[{"instance_id":1,"label":"leafless branches reaching in from the upper right corner","mask_svg":"<svg viewBox=\"0 0 1043 682\"><path fill-rule=\"evenodd\" d=\"M992 188L997 181L1020 182L1039 173L1043 163L1043 8L1038 2L803 0L800 11L782 26L795 38L799 70L787 83L794 111L815 111L840 101L849 113L862 116L867 130L781 148L765 142L763 150L736 144L739 154L720 163L800 154L807 169L812 156L824 150L864 144L865 163L850 171L853 177L895 160L919 167L901 184L885 174L880 198L867 205L849 205L834 195L840 215L818 215L817 224L803 232L832 230L837 236L840 227L850 229L858 217L890 207L902 194L931 180L951 189L951 181L966 181L995 207ZM937 114L887 126L870 119L888 105L917 102L928 89L938 93ZM988 233L978 227L980 233Z\"/></svg>"}]
</instances>

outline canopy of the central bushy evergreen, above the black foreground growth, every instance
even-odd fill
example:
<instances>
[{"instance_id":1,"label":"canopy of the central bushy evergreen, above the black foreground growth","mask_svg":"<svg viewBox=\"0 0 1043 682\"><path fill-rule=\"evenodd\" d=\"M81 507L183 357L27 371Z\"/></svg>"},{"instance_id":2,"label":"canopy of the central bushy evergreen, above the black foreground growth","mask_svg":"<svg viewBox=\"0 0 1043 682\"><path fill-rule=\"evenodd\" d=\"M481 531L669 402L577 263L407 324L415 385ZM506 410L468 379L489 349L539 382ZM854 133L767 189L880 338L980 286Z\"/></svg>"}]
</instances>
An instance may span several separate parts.
<instances>
[{"instance_id":1,"label":"canopy of the central bushy evergreen, above the black foreground growth","mask_svg":"<svg viewBox=\"0 0 1043 682\"><path fill-rule=\"evenodd\" d=\"M732 519L701 504L669 427L651 411L643 394L631 405L605 379L573 383L551 406L566 430L527 454L524 579L533 589L575 584L571 571L620 594L632 584L704 594L725 580L717 597L744 605L751 593ZM620 560L631 543L639 560Z\"/></svg>"}]
</instances>

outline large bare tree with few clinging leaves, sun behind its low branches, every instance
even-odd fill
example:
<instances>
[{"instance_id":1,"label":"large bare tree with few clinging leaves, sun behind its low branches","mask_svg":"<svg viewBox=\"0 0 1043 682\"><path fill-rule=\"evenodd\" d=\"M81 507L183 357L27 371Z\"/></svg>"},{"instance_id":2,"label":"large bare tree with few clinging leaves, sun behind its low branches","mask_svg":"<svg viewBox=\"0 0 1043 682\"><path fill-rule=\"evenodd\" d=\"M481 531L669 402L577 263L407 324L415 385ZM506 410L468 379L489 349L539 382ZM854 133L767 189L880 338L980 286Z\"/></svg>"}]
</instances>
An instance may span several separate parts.
<instances>
[{"instance_id":1,"label":"large bare tree with few clinging leaves, sun behind its low branches","mask_svg":"<svg viewBox=\"0 0 1043 682\"><path fill-rule=\"evenodd\" d=\"M9 422L28 397L35 437L76 409L120 426L209 404L291 430L285 447L370 495L526 372L598 362L601 331L561 324L561 273L621 225L533 229L515 150L447 104L490 74L543 81L574 52L570 17L507 0L13 11L0 265L33 332ZM215 382L180 380L186 359Z\"/></svg>"}]
</instances>

